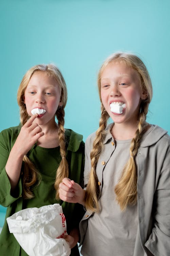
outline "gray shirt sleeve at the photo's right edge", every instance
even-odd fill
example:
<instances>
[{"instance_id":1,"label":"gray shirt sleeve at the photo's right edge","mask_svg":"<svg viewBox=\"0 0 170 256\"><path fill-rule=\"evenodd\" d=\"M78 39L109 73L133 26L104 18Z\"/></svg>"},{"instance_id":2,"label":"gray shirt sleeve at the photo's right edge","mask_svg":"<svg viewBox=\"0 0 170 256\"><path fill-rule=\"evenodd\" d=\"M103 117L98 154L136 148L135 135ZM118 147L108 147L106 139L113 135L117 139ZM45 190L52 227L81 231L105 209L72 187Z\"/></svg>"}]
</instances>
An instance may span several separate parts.
<instances>
[{"instance_id":1,"label":"gray shirt sleeve at the photo's right edge","mask_svg":"<svg viewBox=\"0 0 170 256\"><path fill-rule=\"evenodd\" d=\"M165 146L165 145L164 145ZM155 256L169 256L170 254L170 145L165 153L165 148L160 152L162 168L154 194L152 233L145 246Z\"/></svg>"}]
</instances>

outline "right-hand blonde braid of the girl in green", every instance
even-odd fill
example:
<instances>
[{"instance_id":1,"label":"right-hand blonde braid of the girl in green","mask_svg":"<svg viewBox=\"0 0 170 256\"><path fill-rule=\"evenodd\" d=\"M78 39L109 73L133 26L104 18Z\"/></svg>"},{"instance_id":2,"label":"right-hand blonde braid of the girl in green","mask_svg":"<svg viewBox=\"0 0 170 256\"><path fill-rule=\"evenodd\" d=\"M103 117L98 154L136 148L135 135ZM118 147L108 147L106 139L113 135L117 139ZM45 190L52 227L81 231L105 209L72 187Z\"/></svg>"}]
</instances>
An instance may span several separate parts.
<instances>
[{"instance_id":1,"label":"right-hand blonde braid of the girl in green","mask_svg":"<svg viewBox=\"0 0 170 256\"><path fill-rule=\"evenodd\" d=\"M60 154L61 154L62 160L57 169L54 187L56 190L55 197L56 197L56 199L59 199L59 193L58 193L59 184L62 182L62 180L65 177L68 177L68 175L69 175L68 162L66 160L66 145L65 145L65 134L64 134L64 132L65 132L65 130L64 130L65 111L64 111L63 107L58 107L56 116L58 119L58 127L59 127L58 138L59 138Z\"/></svg>"}]
</instances>

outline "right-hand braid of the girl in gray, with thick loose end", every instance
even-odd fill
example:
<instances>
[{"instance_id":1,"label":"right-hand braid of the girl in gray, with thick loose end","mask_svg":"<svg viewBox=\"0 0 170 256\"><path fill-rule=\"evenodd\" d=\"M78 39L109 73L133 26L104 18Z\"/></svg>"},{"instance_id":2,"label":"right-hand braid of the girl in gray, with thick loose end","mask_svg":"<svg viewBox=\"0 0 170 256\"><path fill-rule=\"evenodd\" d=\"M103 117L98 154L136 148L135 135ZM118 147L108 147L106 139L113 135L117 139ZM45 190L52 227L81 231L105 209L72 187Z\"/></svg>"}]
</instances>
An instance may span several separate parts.
<instances>
[{"instance_id":1,"label":"right-hand braid of the girl in gray, with thick loose end","mask_svg":"<svg viewBox=\"0 0 170 256\"><path fill-rule=\"evenodd\" d=\"M131 141L130 158L126 163L120 181L115 186L116 200L121 210L125 210L127 205L134 205L137 202L137 170L135 156L140 146L140 140L145 129L146 114L148 112L148 104L144 108L141 105L141 113L139 115L138 129Z\"/></svg>"}]
</instances>

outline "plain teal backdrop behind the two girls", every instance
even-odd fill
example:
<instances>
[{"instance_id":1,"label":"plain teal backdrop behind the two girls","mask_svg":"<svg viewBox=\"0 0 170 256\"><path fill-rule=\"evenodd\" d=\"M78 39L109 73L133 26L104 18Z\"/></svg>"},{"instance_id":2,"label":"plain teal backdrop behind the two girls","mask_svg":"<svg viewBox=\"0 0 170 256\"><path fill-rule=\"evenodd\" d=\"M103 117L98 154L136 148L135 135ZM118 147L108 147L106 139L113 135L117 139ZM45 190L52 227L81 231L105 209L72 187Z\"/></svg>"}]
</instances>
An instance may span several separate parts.
<instances>
[{"instance_id":1,"label":"plain teal backdrop behind the two girls","mask_svg":"<svg viewBox=\"0 0 170 256\"><path fill-rule=\"evenodd\" d=\"M98 127L96 78L115 51L132 51L153 83L148 122L170 131L169 0L0 0L0 130L19 123L24 73L55 63L68 88L65 127L84 136Z\"/></svg>"}]
</instances>

